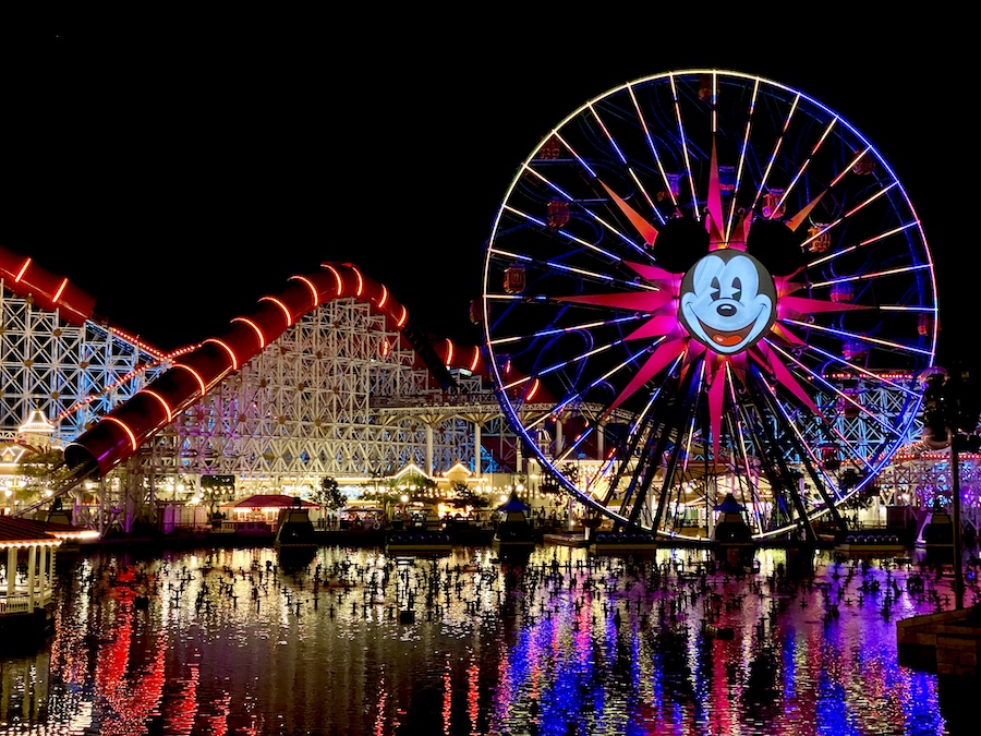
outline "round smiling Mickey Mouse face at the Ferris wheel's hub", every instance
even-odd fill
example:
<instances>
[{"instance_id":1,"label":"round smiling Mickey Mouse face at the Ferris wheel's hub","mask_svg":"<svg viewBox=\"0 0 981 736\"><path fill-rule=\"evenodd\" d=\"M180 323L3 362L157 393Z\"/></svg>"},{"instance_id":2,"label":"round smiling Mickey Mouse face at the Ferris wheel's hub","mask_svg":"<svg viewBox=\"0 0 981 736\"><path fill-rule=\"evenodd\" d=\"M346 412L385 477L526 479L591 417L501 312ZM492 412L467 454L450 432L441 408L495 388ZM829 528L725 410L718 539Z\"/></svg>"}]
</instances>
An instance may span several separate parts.
<instances>
[{"instance_id":1,"label":"round smiling Mickey Mouse face at the Ferris wheel's hub","mask_svg":"<svg viewBox=\"0 0 981 736\"><path fill-rule=\"evenodd\" d=\"M731 355L763 337L776 319L770 272L742 251L713 251L681 279L678 318L691 336Z\"/></svg>"}]
</instances>

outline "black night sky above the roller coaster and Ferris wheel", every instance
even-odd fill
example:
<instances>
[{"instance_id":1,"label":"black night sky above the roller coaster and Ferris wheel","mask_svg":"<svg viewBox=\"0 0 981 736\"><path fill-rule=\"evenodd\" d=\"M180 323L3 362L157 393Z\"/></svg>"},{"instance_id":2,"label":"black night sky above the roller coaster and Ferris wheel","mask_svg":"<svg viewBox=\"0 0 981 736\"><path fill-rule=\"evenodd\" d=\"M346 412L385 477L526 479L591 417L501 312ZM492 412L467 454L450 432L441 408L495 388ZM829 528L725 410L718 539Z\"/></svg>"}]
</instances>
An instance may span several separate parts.
<instances>
[{"instance_id":1,"label":"black night sky above the roller coaster and Ferris wheel","mask_svg":"<svg viewBox=\"0 0 981 736\"><path fill-rule=\"evenodd\" d=\"M425 331L474 343L484 242L538 141L614 86L716 68L800 89L882 153L933 252L941 360L960 354L981 292L968 32L824 11L791 23L495 7L464 23L378 9L8 29L0 244L164 349L223 331L331 260L388 286Z\"/></svg>"}]
</instances>

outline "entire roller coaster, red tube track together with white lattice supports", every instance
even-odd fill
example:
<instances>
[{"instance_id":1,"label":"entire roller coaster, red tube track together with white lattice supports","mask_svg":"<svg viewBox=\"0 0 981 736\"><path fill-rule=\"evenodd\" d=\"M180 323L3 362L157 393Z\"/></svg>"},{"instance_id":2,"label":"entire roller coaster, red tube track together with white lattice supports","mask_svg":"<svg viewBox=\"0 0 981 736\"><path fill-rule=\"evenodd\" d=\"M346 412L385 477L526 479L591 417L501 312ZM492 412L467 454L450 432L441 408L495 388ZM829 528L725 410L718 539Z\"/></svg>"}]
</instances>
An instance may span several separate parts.
<instances>
[{"instance_id":1,"label":"entire roller coaster, red tube track together with white lattice supports","mask_svg":"<svg viewBox=\"0 0 981 736\"><path fill-rule=\"evenodd\" d=\"M410 463L474 469L475 448L481 472L528 470L486 390L480 350L423 337L350 264L294 277L225 335L172 353L96 317L93 298L29 258L0 249L0 483L16 515L71 495L78 523L129 531L181 481L231 475L246 493L299 491ZM50 426L25 423L35 417ZM542 425L556 451L561 425ZM17 460L48 443L65 462L47 479L52 496L38 500L11 481ZM976 464L968 458L960 476L968 518ZM943 453L915 447L877 484L887 504L924 506L948 486Z\"/></svg>"}]
</instances>

